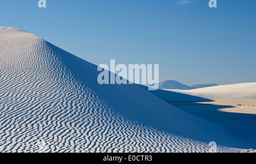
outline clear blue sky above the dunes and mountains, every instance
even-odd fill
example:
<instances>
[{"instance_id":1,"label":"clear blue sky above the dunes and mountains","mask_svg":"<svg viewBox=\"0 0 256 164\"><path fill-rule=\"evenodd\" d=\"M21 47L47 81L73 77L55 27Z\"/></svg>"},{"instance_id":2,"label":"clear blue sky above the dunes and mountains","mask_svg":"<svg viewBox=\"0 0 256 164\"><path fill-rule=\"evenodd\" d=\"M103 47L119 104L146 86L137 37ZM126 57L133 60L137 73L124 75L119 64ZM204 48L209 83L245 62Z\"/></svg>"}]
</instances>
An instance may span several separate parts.
<instances>
[{"instance_id":1,"label":"clear blue sky above the dunes and mountains","mask_svg":"<svg viewBox=\"0 0 256 164\"><path fill-rule=\"evenodd\" d=\"M93 64L159 64L160 81L256 82L255 0L1 0L0 26Z\"/></svg>"}]
</instances>

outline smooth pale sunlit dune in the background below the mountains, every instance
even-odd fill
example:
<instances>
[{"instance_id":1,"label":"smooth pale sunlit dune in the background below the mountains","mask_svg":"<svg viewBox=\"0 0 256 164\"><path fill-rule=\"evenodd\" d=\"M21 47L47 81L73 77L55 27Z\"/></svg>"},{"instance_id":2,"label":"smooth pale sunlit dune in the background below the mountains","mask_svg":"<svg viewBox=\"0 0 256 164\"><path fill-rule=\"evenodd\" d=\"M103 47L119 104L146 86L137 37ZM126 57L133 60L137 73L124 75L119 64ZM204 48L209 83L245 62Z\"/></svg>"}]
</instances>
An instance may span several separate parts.
<instances>
[{"instance_id":1,"label":"smooth pale sunlit dune in the background below the mountains","mask_svg":"<svg viewBox=\"0 0 256 164\"><path fill-rule=\"evenodd\" d=\"M256 100L256 83L238 83L194 90L168 90L210 100ZM171 100L171 98L170 98ZM185 99L183 99L185 101Z\"/></svg>"}]
</instances>

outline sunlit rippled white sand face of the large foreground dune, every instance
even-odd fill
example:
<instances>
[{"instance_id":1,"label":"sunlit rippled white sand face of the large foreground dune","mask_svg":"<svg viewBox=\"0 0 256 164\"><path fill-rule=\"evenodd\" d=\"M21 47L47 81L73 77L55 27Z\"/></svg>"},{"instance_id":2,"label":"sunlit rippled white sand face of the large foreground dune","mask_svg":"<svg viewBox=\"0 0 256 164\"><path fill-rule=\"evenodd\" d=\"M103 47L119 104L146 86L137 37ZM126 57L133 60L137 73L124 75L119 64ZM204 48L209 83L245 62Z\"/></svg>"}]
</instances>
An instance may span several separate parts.
<instances>
[{"instance_id":1,"label":"sunlit rippled white sand face of the large foreground dune","mask_svg":"<svg viewBox=\"0 0 256 164\"><path fill-rule=\"evenodd\" d=\"M46 40L0 27L0 152L207 152L127 119L76 79ZM218 152L239 149L218 147Z\"/></svg>"}]
</instances>

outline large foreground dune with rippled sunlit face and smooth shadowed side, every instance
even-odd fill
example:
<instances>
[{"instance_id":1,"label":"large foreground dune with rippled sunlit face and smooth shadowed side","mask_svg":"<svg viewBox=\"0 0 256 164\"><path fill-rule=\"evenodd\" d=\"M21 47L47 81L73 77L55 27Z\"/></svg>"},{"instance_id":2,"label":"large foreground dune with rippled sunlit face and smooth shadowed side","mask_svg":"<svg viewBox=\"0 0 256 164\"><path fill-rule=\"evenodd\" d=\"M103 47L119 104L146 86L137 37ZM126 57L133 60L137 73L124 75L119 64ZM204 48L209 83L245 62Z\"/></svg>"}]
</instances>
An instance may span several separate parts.
<instances>
[{"instance_id":1,"label":"large foreground dune with rippled sunlit face and smooth shadowed side","mask_svg":"<svg viewBox=\"0 0 256 164\"><path fill-rule=\"evenodd\" d=\"M97 75L96 65L38 36L0 27L0 152L38 152L40 141L46 152L246 148L137 85L98 85Z\"/></svg>"}]
</instances>

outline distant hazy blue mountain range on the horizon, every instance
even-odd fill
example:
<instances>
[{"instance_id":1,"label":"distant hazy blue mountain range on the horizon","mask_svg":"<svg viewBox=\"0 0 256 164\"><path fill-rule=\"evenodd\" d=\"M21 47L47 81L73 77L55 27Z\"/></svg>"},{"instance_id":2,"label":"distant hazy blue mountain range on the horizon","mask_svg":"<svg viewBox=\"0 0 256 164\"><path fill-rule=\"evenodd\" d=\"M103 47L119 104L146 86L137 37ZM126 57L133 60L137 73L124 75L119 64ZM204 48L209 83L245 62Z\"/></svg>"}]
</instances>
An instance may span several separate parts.
<instances>
[{"instance_id":1,"label":"distant hazy blue mountain range on the horizon","mask_svg":"<svg viewBox=\"0 0 256 164\"><path fill-rule=\"evenodd\" d=\"M217 84L216 83L203 84L203 85L197 84L197 85L188 86L188 85L184 85L183 83L180 83L180 82L174 81L174 80L168 80L168 81L159 83L159 89L192 90L192 89L199 89L199 88L211 87L211 86L217 86Z\"/></svg>"}]
</instances>

